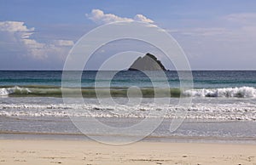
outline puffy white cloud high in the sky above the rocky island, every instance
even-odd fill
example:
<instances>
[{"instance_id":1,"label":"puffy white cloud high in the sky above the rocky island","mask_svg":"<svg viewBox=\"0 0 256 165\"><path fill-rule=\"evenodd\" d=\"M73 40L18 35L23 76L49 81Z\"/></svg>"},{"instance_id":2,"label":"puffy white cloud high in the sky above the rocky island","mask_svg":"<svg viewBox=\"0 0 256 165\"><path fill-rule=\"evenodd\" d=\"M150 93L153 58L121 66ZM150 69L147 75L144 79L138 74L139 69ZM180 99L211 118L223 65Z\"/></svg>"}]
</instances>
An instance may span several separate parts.
<instances>
[{"instance_id":1,"label":"puffy white cloud high in the sky above the rocky island","mask_svg":"<svg viewBox=\"0 0 256 165\"><path fill-rule=\"evenodd\" d=\"M125 17L119 17L115 14L104 14L104 12L100 9L92 9L90 14L85 14L87 18L90 20L93 20L97 24L106 24L111 22L117 22L117 21L143 21L147 23L154 23L153 20L148 19L143 14L137 14L134 16L133 19L131 18L125 18Z\"/></svg>"}]
</instances>

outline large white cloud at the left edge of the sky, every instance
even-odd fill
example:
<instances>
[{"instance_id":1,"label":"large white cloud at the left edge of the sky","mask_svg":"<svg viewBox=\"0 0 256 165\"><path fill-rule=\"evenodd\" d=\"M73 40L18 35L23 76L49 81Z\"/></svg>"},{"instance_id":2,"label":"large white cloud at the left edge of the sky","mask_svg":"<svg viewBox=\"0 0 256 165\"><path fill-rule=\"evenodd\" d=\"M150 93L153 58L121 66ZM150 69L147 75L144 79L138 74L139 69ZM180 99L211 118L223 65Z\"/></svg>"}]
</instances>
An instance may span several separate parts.
<instances>
[{"instance_id":1,"label":"large white cloud at the left edge of the sky","mask_svg":"<svg viewBox=\"0 0 256 165\"><path fill-rule=\"evenodd\" d=\"M35 28L28 28L25 22L2 21L0 22L1 48L5 51L12 51L13 48L20 48L20 53L37 60L50 58L49 56L59 56L67 54L69 48L73 46L73 41L55 40L48 43L38 42L32 38ZM5 45L12 44L12 47ZM9 48L9 49L8 49Z\"/></svg>"}]
</instances>

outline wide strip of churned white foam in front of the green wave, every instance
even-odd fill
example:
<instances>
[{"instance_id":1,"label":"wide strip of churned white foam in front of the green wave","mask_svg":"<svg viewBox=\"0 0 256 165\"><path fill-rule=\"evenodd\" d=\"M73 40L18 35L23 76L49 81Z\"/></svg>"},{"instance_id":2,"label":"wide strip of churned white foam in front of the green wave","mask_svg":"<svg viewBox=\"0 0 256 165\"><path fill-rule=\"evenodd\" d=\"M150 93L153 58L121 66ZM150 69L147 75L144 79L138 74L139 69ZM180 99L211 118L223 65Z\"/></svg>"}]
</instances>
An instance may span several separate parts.
<instances>
[{"instance_id":1,"label":"wide strip of churned white foam in front of the green wave","mask_svg":"<svg viewBox=\"0 0 256 165\"><path fill-rule=\"evenodd\" d=\"M187 118L203 120L256 121L256 105L253 103L208 104L195 103L189 108L183 105L38 105L0 104L0 116L28 117L148 117L152 111L167 109L166 118L174 118L177 109L188 111ZM158 117L150 116L150 117Z\"/></svg>"}]
</instances>

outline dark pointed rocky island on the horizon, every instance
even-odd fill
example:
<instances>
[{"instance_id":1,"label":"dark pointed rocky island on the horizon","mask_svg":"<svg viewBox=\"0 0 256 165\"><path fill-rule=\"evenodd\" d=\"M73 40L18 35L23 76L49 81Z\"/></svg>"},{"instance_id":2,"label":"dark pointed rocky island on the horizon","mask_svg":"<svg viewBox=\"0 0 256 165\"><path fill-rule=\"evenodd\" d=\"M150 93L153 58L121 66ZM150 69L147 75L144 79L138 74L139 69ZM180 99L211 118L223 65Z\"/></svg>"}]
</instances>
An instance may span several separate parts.
<instances>
[{"instance_id":1,"label":"dark pointed rocky island on the horizon","mask_svg":"<svg viewBox=\"0 0 256 165\"><path fill-rule=\"evenodd\" d=\"M166 68L153 54L146 54L137 58L128 71L166 71Z\"/></svg>"}]
</instances>

